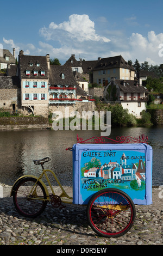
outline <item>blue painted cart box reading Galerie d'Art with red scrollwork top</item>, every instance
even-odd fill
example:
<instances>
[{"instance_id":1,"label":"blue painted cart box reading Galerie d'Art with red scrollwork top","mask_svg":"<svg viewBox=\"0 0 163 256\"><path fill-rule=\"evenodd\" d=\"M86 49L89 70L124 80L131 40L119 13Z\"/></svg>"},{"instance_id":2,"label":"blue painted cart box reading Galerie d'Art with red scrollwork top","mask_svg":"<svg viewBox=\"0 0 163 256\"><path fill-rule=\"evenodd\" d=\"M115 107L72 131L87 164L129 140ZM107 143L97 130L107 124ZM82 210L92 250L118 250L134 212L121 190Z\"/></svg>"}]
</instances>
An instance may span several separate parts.
<instances>
[{"instance_id":1,"label":"blue painted cart box reading Galerie d'Art with red scrollwork top","mask_svg":"<svg viewBox=\"0 0 163 256\"><path fill-rule=\"evenodd\" d=\"M117 141L77 137L73 145L73 204L87 204L104 188L117 188L134 204L152 204L152 147L147 137Z\"/></svg>"}]
</instances>

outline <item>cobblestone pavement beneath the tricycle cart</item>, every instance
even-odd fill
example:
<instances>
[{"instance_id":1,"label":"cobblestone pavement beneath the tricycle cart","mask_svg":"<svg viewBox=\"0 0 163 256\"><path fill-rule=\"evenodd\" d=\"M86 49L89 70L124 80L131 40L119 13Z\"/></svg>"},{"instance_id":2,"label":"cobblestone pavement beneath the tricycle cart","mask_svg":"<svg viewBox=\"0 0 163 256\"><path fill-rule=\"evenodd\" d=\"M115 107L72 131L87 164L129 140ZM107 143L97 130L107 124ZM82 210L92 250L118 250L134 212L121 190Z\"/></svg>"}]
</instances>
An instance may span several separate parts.
<instances>
[{"instance_id":1,"label":"cobblestone pavement beneath the tricycle cart","mask_svg":"<svg viewBox=\"0 0 163 256\"><path fill-rule=\"evenodd\" d=\"M130 231L118 238L99 237L87 225L86 208L47 206L35 219L20 216L14 208L10 187L0 199L0 245L163 245L163 188L153 188L152 205L136 205Z\"/></svg>"}]
</instances>

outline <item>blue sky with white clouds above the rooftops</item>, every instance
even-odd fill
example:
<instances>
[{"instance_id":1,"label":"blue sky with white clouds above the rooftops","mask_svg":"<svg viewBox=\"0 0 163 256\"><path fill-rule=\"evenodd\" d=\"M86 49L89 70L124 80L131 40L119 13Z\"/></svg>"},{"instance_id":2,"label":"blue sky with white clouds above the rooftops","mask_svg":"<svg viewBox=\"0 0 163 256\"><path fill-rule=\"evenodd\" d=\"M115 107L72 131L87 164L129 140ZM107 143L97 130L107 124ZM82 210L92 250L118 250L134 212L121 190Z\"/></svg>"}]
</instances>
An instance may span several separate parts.
<instances>
[{"instance_id":1,"label":"blue sky with white clouds above the rooftops","mask_svg":"<svg viewBox=\"0 0 163 256\"><path fill-rule=\"evenodd\" d=\"M163 1L0 0L0 48L85 60L122 55L163 63ZM17 57L18 58L18 57Z\"/></svg>"}]
</instances>

